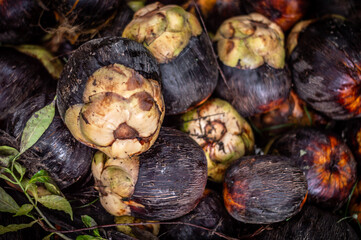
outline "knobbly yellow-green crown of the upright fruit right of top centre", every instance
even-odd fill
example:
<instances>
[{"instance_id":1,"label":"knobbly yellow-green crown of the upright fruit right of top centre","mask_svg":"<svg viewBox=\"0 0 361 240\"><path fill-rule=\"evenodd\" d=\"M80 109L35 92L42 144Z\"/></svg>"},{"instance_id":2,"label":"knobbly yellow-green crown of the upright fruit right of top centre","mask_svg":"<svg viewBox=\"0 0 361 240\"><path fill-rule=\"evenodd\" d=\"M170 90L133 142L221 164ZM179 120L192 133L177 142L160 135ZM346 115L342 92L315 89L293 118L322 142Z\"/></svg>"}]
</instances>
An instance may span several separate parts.
<instances>
[{"instance_id":1,"label":"knobbly yellow-green crown of the upright fruit right of top centre","mask_svg":"<svg viewBox=\"0 0 361 240\"><path fill-rule=\"evenodd\" d=\"M224 21L214 41L220 60L227 66L254 69L267 63L279 69L285 65L283 32L261 14L252 13Z\"/></svg>"}]
</instances>

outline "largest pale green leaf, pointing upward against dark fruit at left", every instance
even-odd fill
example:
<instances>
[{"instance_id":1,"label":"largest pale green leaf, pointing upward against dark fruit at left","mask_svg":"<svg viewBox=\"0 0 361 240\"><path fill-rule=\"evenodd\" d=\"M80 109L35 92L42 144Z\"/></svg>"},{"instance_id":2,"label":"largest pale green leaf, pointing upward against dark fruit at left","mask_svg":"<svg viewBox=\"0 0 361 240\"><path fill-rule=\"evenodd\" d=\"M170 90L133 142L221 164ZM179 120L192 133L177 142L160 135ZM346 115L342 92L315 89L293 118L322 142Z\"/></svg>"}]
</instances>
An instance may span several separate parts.
<instances>
[{"instance_id":1,"label":"largest pale green leaf, pointing upward against dark fruit at left","mask_svg":"<svg viewBox=\"0 0 361 240\"><path fill-rule=\"evenodd\" d=\"M55 100L35 112L27 121L20 142L20 153L31 148L48 129L55 115Z\"/></svg>"}]
</instances>

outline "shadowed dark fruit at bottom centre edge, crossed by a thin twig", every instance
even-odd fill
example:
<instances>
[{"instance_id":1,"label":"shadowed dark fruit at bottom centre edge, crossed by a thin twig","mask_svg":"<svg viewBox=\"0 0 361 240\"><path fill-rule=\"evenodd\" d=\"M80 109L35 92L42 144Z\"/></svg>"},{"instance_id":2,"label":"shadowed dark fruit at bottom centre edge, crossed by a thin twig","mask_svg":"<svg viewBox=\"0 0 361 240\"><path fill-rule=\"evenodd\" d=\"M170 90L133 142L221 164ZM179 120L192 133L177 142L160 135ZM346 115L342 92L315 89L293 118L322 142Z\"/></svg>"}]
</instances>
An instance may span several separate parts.
<instances>
[{"instance_id":1,"label":"shadowed dark fruit at bottom centre edge, crossed by a thin twig","mask_svg":"<svg viewBox=\"0 0 361 240\"><path fill-rule=\"evenodd\" d=\"M213 190L206 189L197 207L190 213L174 219L177 222L192 223L208 229L217 229L217 232L232 236L235 233L235 220L227 213L222 197ZM161 240L208 240L222 239L211 231L194 228L187 225L163 225Z\"/></svg>"}]
</instances>

